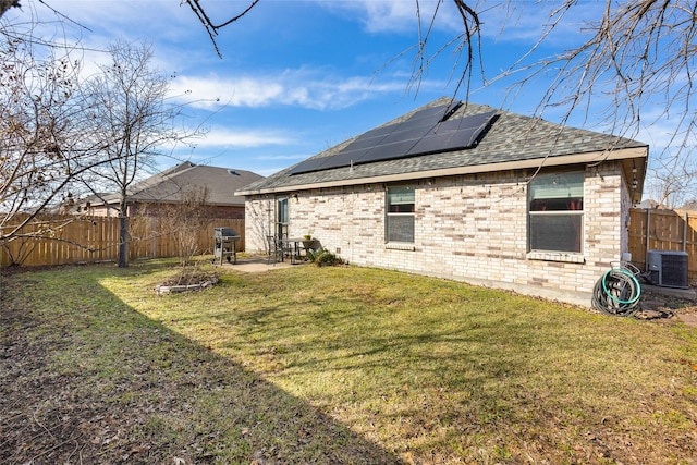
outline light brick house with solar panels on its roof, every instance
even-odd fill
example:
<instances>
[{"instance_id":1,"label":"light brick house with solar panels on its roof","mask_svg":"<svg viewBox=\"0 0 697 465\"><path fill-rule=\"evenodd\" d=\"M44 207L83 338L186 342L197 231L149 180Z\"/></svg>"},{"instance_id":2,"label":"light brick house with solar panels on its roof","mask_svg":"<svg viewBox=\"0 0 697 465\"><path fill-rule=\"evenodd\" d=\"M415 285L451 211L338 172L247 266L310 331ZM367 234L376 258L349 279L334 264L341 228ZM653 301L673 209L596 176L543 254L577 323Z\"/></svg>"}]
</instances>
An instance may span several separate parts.
<instances>
[{"instance_id":1,"label":"light brick house with solar panels on its roof","mask_svg":"<svg viewBox=\"0 0 697 465\"><path fill-rule=\"evenodd\" d=\"M646 144L439 99L244 187L247 250L313 234L351 264L590 305L628 249Z\"/></svg>"}]
</instances>

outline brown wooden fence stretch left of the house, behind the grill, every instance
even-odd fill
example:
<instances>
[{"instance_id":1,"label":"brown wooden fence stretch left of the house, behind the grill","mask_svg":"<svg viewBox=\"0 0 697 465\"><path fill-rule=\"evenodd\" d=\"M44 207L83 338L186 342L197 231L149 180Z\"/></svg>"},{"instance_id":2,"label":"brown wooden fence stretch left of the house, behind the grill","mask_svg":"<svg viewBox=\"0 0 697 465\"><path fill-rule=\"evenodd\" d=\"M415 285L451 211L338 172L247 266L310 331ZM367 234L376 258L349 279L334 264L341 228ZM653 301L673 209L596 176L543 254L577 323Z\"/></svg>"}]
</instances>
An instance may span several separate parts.
<instances>
[{"instance_id":1,"label":"brown wooden fence stretch left of the house, behind the grill","mask_svg":"<svg viewBox=\"0 0 697 465\"><path fill-rule=\"evenodd\" d=\"M178 238L158 218L129 219L129 259L164 258L181 255ZM244 250L244 220L210 219L197 229L198 254L212 254L213 228L232 228L241 235L237 250ZM10 265L47 266L115 261L119 257L119 219L41 216L21 233L41 232L49 238L17 238L0 247L0 267Z\"/></svg>"}]
</instances>

